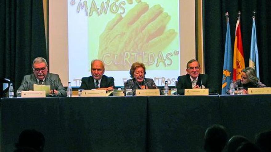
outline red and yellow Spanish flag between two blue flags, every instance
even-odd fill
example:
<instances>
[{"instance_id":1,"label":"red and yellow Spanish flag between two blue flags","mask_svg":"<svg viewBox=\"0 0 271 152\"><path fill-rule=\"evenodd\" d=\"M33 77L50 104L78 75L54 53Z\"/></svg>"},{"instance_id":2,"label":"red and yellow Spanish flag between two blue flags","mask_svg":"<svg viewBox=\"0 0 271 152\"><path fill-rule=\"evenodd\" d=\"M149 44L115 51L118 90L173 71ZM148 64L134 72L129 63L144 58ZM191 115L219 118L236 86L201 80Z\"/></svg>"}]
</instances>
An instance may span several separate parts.
<instances>
[{"instance_id":1,"label":"red and yellow Spanish flag between two blue flags","mask_svg":"<svg viewBox=\"0 0 271 152\"><path fill-rule=\"evenodd\" d=\"M241 37L239 18L235 29L235 41L233 51L233 80L241 79L241 71L245 68L244 51Z\"/></svg>"}]
</instances>

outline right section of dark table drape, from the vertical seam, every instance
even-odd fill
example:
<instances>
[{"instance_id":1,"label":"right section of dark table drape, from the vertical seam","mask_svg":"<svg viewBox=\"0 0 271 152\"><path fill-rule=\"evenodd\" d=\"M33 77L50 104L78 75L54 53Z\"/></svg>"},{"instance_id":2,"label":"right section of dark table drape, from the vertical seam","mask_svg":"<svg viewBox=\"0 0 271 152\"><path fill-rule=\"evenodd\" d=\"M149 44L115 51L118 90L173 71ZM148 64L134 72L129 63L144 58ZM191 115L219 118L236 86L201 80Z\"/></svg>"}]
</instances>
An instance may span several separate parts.
<instances>
[{"instance_id":1,"label":"right section of dark table drape, from the vertical seam","mask_svg":"<svg viewBox=\"0 0 271 152\"><path fill-rule=\"evenodd\" d=\"M203 152L205 130L221 124L229 137L271 129L271 95L148 98L148 150Z\"/></svg>"}]
</instances>

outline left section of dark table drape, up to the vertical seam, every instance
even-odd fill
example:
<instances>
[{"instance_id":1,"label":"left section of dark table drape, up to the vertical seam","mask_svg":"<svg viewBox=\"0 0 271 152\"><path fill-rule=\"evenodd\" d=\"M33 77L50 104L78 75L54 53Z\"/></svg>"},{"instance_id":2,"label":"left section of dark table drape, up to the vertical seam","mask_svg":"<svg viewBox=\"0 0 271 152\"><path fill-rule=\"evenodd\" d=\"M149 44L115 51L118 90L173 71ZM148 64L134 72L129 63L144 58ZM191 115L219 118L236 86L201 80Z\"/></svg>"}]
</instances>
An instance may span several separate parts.
<instances>
[{"instance_id":1,"label":"left section of dark table drape, up to the vertical seam","mask_svg":"<svg viewBox=\"0 0 271 152\"><path fill-rule=\"evenodd\" d=\"M21 131L44 134L45 152L145 151L147 97L1 99L1 152Z\"/></svg>"}]
</instances>

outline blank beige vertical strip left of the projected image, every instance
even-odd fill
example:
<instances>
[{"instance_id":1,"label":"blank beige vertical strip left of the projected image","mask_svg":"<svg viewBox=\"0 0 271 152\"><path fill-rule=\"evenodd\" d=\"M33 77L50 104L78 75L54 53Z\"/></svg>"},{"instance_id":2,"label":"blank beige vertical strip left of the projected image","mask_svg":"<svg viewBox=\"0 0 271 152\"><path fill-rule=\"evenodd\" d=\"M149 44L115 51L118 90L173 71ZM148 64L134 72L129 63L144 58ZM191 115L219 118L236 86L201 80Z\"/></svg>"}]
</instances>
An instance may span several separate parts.
<instances>
[{"instance_id":1,"label":"blank beige vertical strip left of the projected image","mask_svg":"<svg viewBox=\"0 0 271 152\"><path fill-rule=\"evenodd\" d=\"M69 81L67 0L49 0L49 65L64 86Z\"/></svg>"}]
</instances>

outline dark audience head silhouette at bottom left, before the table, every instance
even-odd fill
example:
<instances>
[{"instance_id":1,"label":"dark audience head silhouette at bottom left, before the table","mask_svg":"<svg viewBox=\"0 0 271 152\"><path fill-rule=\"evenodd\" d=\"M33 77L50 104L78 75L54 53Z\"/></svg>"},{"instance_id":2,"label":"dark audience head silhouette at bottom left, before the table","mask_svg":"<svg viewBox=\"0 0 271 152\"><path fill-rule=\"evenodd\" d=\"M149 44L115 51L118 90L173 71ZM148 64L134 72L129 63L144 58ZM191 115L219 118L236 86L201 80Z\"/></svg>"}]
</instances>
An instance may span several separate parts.
<instances>
[{"instance_id":1,"label":"dark audience head silhouette at bottom left, before the table","mask_svg":"<svg viewBox=\"0 0 271 152\"><path fill-rule=\"evenodd\" d=\"M29 147L37 150L38 152L43 151L45 138L41 132L34 129L26 129L21 132L18 143L15 144L17 149Z\"/></svg>"}]
</instances>

